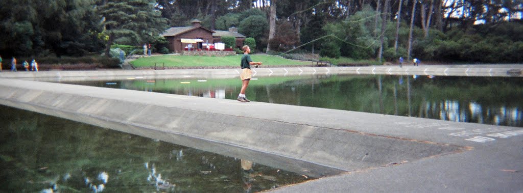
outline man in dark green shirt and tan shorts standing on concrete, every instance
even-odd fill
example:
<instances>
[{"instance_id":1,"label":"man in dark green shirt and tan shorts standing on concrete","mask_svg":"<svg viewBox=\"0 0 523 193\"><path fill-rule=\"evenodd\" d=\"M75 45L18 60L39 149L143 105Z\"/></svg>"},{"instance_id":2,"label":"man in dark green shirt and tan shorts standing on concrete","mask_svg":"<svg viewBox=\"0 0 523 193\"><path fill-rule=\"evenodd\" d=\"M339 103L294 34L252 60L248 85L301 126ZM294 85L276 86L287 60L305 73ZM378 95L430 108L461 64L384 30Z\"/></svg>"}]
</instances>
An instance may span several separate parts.
<instances>
[{"instance_id":1,"label":"man in dark green shirt and tan shorts standing on concrete","mask_svg":"<svg viewBox=\"0 0 523 193\"><path fill-rule=\"evenodd\" d=\"M240 64L242 67L242 73L240 74L240 79L242 79L242 90L240 91L240 95L238 95L238 101L251 102L247 100L245 96L245 90L247 90L247 87L249 86L249 80L252 78L251 65L261 65L261 62L253 62L251 55L249 55L249 53L251 53L251 49L248 45L244 45L242 50L243 56Z\"/></svg>"}]
</instances>

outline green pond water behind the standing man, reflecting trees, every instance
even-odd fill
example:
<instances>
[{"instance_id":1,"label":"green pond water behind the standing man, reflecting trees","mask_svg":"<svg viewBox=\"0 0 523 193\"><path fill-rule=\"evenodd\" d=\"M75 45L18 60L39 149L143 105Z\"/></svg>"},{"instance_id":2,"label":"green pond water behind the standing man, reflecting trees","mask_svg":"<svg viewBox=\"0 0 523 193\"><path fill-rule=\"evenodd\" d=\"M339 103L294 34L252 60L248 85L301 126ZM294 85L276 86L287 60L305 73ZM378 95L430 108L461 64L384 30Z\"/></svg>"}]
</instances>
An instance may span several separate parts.
<instances>
[{"instance_id":1,"label":"green pond water behind the standing man, reflecting trees","mask_svg":"<svg viewBox=\"0 0 523 193\"><path fill-rule=\"evenodd\" d=\"M235 100L233 79L135 79L69 82ZM385 75L259 77L247 99L453 122L523 127L523 78Z\"/></svg>"}]
</instances>

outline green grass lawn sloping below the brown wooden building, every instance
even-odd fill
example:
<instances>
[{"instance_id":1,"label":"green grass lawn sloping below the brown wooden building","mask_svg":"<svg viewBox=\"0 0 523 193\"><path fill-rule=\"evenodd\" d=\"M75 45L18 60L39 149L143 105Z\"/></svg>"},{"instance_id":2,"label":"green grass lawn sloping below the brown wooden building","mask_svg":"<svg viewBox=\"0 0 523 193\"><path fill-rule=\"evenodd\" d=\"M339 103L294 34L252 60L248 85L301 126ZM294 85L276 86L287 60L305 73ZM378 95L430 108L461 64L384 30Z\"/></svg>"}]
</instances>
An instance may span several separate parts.
<instances>
[{"instance_id":1,"label":"green grass lawn sloping below the brown wooden building","mask_svg":"<svg viewBox=\"0 0 523 193\"><path fill-rule=\"evenodd\" d=\"M218 66L240 66L242 55L232 56L180 56L161 55L138 58L132 61L134 67L154 67L155 63L165 63L165 67L218 67ZM311 65L307 61L295 61L280 56L265 54L253 54L254 62L263 62L266 66L289 66L289 65ZM162 64L159 64L162 65Z\"/></svg>"}]
</instances>

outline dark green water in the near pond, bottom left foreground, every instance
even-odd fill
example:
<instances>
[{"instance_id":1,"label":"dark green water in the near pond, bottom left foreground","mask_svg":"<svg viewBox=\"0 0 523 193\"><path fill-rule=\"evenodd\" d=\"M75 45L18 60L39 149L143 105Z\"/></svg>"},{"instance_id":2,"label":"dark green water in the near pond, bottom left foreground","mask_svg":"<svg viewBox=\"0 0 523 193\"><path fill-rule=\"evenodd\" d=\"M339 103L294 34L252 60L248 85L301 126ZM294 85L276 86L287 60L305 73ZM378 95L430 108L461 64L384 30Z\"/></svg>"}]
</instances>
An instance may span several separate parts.
<instances>
[{"instance_id":1,"label":"dark green water in the near pond, bottom left foreground","mask_svg":"<svg viewBox=\"0 0 523 193\"><path fill-rule=\"evenodd\" d=\"M0 105L0 192L256 192L314 179Z\"/></svg>"}]
</instances>

